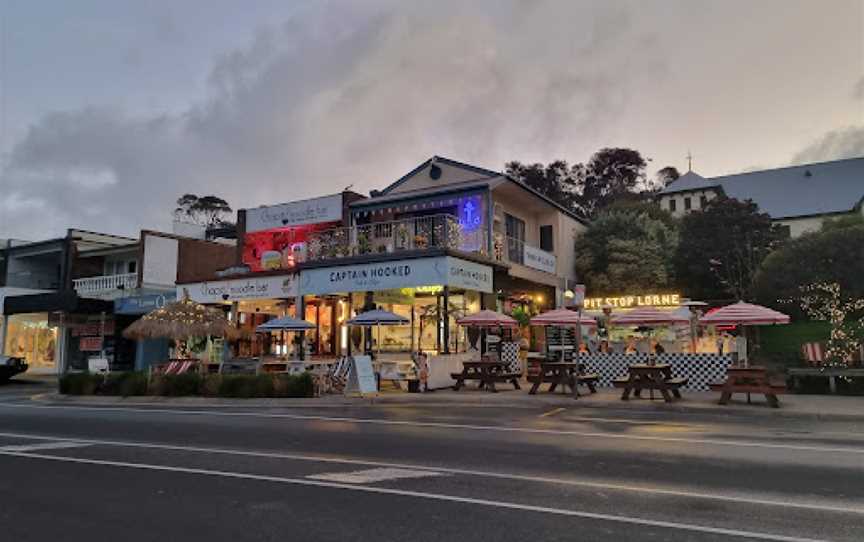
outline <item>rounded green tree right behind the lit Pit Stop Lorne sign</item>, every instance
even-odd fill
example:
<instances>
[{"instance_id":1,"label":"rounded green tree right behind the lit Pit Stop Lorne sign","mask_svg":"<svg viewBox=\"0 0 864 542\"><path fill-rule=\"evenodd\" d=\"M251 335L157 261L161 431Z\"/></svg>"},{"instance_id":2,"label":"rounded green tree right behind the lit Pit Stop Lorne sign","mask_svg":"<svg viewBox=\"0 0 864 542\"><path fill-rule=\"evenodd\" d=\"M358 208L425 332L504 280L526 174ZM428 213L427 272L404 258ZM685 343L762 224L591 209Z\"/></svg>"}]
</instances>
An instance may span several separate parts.
<instances>
[{"instance_id":1,"label":"rounded green tree right behind the lit Pit Stop Lorne sign","mask_svg":"<svg viewBox=\"0 0 864 542\"><path fill-rule=\"evenodd\" d=\"M669 255L678 232L660 213L668 214L650 204L612 206L591 222L576 241L576 273L592 296L674 284Z\"/></svg>"}]
</instances>

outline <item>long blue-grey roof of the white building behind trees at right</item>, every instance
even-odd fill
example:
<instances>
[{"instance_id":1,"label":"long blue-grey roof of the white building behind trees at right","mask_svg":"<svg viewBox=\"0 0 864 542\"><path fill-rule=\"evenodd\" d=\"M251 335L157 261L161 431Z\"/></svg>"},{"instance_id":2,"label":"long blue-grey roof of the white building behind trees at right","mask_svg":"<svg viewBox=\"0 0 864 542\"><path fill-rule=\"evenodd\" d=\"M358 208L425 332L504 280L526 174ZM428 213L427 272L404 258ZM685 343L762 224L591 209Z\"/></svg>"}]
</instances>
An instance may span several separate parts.
<instances>
[{"instance_id":1,"label":"long blue-grey roof of the white building behind trees at right","mask_svg":"<svg viewBox=\"0 0 864 542\"><path fill-rule=\"evenodd\" d=\"M679 185L684 177L661 195L719 187L731 198L753 200L774 219L848 213L864 201L864 157L723 175L703 185L698 176Z\"/></svg>"}]
</instances>

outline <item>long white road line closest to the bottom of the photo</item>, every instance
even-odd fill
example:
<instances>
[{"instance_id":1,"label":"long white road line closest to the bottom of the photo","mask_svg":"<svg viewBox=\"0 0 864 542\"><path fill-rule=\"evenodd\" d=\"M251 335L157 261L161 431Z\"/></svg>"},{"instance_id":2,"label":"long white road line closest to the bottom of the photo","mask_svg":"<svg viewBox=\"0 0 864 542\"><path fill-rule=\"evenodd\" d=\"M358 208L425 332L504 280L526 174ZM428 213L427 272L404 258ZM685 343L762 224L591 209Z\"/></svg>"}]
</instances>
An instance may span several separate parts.
<instances>
[{"instance_id":1,"label":"long white road line closest to the bottom of the photo","mask_svg":"<svg viewBox=\"0 0 864 542\"><path fill-rule=\"evenodd\" d=\"M151 470L161 472L174 472L184 474L197 474L203 476L216 476L223 478L234 478L242 480L258 480L262 482L273 482L291 485L322 487L329 489L347 489L350 491L361 491L365 493L376 493L380 495L396 495L400 497L415 497L419 499L427 499L434 501L456 502L461 504L474 504L489 508L503 508L507 510L519 510L524 512L537 512L541 514L552 514L558 516L578 517L585 519L594 519L600 521L609 521L614 523L626 523L631 525L645 525L650 527L660 527L666 529L676 529L681 531L691 531L698 533L710 533L724 536L752 538L754 540L770 540L774 542L828 542L822 539L804 538L797 536L786 536L774 533L764 533L755 531L744 531L739 529L727 529L723 527L711 527L708 525L696 525L690 523L679 523L675 521L662 521L647 518L639 518L623 515L601 514L596 512L584 512L580 510L568 510L564 508L552 508L548 506L535 506L530 504L520 504L506 501L491 501L487 499L477 499L472 497L459 497L456 495L445 495L441 493L426 493L422 491L410 491L404 489L393 489L384 487L364 486L343 484L339 482L328 482L325 480L308 480L304 478L287 478L281 476L270 476L264 474L248 474L232 471L221 471L211 469L197 469L189 467L173 467L168 465L152 465L149 463L131 463L126 461L109 461L104 459L84 459L79 457L65 457L59 455L44 455L29 452L3 452L0 455L22 457L28 459L43 459L47 461L58 461L68 463L78 463L85 465L100 465L107 467L120 467L128 469Z\"/></svg>"}]
</instances>

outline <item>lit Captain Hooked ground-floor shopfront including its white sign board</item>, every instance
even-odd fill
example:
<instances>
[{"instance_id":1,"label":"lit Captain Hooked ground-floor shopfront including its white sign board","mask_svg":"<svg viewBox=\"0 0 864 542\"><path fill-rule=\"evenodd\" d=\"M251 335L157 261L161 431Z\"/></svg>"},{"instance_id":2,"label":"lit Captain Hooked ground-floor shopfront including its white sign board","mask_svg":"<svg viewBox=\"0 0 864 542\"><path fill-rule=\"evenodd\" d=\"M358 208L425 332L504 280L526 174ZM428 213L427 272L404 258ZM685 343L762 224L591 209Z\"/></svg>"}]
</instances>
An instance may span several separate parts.
<instances>
[{"instance_id":1,"label":"lit Captain Hooked ground-floor shopfront including its white sign board","mask_svg":"<svg viewBox=\"0 0 864 542\"><path fill-rule=\"evenodd\" d=\"M398 354L464 351L467 339L456 319L480 310L482 294L493 292L492 277L488 265L446 255L304 269L300 293L306 319L318 323L311 351L322 356L363 348ZM323 318L322 307L329 313ZM373 307L403 316L410 325L382 326L379 344L377 333L364 338L363 330L344 324Z\"/></svg>"}]
</instances>

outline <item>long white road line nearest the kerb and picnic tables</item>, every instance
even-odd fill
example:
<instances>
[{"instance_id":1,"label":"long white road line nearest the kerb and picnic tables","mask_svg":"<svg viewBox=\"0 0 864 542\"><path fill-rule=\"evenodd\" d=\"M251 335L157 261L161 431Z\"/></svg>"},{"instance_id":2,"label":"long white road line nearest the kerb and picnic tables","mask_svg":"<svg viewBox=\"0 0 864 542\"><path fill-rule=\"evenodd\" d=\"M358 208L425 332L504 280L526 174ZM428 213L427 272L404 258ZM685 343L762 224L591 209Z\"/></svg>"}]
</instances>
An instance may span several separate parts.
<instances>
[{"instance_id":1,"label":"long white road line nearest the kerb and picnic tables","mask_svg":"<svg viewBox=\"0 0 864 542\"><path fill-rule=\"evenodd\" d=\"M857 447L837 447L837 446L811 446L806 444L777 444L770 442L749 442L743 440L720 440L720 439L698 439L686 437L661 437L655 435L624 435L620 433L604 433L598 431L570 431L560 429L540 429L532 427L514 427L506 425L475 425L475 424L460 424L460 423L444 423L444 422L420 422L409 420L379 420L375 418L352 418L348 416L321 416L312 414L279 414L265 412L212 412L206 410L175 410L167 408L126 408L126 407L82 407L82 406L49 406L49 405L28 405L15 403L0 403L0 407L5 408L30 408L30 409L60 409L63 411L69 410L86 410L95 412L134 412L136 414L171 414L171 415L188 415L188 416L221 416L221 417L241 417L241 418L273 418L298 421L323 421L323 422L338 422L338 423L357 423L365 425L388 425L402 427L430 427L434 429L461 429L467 431L490 431L501 433L526 433L540 435L561 435L574 436L583 438L604 438L617 440L637 440L645 442L669 442L675 444L700 444L712 446L728 446L740 448L764 448L770 450L795 450L799 452L815 452L838 453L838 454L855 454L864 455L864 446Z\"/></svg>"}]
</instances>

